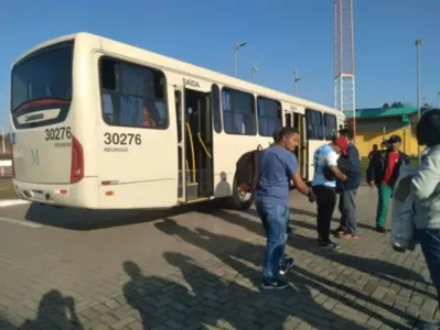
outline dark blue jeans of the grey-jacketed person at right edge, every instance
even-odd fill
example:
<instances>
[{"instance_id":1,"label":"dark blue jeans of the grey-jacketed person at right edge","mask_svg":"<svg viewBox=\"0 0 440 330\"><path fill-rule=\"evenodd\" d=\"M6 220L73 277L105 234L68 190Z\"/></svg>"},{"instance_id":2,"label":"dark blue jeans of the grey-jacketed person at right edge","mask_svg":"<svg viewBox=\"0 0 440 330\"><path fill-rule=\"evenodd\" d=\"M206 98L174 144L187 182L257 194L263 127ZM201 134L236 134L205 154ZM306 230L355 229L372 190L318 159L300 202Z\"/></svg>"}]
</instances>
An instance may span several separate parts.
<instances>
[{"instance_id":1,"label":"dark blue jeans of the grey-jacketed person at right edge","mask_svg":"<svg viewBox=\"0 0 440 330\"><path fill-rule=\"evenodd\" d=\"M417 229L417 239L427 261L432 284L437 289L437 300L440 308L440 230Z\"/></svg>"}]
</instances>

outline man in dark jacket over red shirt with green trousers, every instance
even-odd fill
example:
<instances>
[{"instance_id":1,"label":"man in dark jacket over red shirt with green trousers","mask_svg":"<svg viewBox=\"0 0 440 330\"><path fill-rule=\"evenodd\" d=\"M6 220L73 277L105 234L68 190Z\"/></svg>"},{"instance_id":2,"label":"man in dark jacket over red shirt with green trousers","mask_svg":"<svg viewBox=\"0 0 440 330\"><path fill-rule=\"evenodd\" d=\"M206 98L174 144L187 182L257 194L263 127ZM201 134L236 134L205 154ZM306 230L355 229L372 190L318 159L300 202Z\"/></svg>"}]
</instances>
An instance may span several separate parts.
<instances>
[{"instance_id":1,"label":"man in dark jacket over red shirt with green trousers","mask_svg":"<svg viewBox=\"0 0 440 330\"><path fill-rule=\"evenodd\" d=\"M393 197L394 185L399 176L400 166L409 164L407 154L399 151L401 139L391 135L387 141L388 148L378 152L369 161L367 169L367 183L376 186L378 191L376 230L385 232L385 223L388 216L388 205Z\"/></svg>"}]
</instances>

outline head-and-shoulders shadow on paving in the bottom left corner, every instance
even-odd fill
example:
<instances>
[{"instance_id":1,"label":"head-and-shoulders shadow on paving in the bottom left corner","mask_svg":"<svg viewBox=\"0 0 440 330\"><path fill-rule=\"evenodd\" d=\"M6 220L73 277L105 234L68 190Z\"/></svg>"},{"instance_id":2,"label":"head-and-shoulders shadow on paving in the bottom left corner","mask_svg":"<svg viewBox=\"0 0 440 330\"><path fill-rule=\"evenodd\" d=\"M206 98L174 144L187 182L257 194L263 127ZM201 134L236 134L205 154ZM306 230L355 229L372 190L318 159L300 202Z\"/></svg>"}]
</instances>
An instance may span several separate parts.
<instances>
[{"instance_id":1,"label":"head-and-shoulders shadow on paving in the bottom left corner","mask_svg":"<svg viewBox=\"0 0 440 330\"><path fill-rule=\"evenodd\" d=\"M39 304L34 320L26 320L21 330L33 329L84 329L75 310L75 300L64 297L57 289L46 293Z\"/></svg>"}]
</instances>

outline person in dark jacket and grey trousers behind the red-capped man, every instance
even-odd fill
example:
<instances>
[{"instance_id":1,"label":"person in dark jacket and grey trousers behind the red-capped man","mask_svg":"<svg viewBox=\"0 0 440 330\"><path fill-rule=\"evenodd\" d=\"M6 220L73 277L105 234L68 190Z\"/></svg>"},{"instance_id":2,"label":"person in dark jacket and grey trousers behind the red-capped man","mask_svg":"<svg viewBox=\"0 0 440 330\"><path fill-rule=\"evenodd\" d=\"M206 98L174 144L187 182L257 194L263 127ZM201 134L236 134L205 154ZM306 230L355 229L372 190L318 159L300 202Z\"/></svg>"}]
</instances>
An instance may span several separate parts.
<instances>
[{"instance_id":1,"label":"person in dark jacket and grey trousers behind the red-capped man","mask_svg":"<svg viewBox=\"0 0 440 330\"><path fill-rule=\"evenodd\" d=\"M347 155L341 156L341 170L346 175L345 182L336 182L336 190L340 193L339 209L341 212L340 227L336 229L336 237L345 240L357 239L357 219L356 219L356 195L361 185L361 161L359 152L353 144L354 132L351 129L339 131L348 142Z\"/></svg>"}]
</instances>

